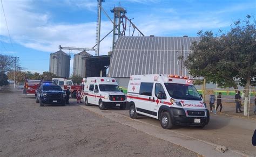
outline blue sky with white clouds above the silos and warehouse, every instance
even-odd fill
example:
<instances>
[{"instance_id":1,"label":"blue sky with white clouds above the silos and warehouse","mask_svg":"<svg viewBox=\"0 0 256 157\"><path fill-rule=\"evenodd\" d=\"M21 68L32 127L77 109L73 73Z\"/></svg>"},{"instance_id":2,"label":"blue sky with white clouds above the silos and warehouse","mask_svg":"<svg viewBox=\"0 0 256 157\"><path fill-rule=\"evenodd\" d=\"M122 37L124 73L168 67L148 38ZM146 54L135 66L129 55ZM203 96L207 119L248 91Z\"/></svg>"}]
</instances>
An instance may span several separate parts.
<instances>
[{"instance_id":1,"label":"blue sky with white clouds above the silos and warehouse","mask_svg":"<svg viewBox=\"0 0 256 157\"><path fill-rule=\"evenodd\" d=\"M59 45L91 48L96 44L97 0L0 1L0 54L19 57L25 71L49 71L50 53L59 51ZM196 37L199 30L227 32L233 22L245 19L246 15L256 18L256 0L102 2L111 18L113 13L110 10L119 5L126 9L126 16L133 18L132 22L146 36ZM112 28L110 20L102 13L100 37L103 38ZM126 34L129 34L129 23ZM100 43L100 55L107 54L111 47L112 34ZM63 51L70 53L69 50ZM71 74L73 55L77 53L79 51L71 52ZM89 53L95 55L94 51Z\"/></svg>"}]
</instances>

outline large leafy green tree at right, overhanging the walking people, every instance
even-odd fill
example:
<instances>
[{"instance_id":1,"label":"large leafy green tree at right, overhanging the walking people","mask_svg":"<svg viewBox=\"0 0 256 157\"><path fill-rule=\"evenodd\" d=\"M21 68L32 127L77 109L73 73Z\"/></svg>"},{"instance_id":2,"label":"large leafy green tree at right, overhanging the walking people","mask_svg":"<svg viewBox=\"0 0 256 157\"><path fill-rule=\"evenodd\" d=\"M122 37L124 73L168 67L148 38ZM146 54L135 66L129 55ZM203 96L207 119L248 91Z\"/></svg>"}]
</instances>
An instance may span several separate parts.
<instances>
[{"instance_id":1,"label":"large leafy green tree at right, overhanging the walking people","mask_svg":"<svg viewBox=\"0 0 256 157\"><path fill-rule=\"evenodd\" d=\"M190 74L203 76L222 87L237 89L240 84L249 89L256 75L255 19L247 15L243 22L234 22L231 30L221 35L214 36L211 31L199 31L198 35L201 40L192 44L193 53L184 64ZM234 81L234 78L240 81ZM245 97L248 95L246 90Z\"/></svg>"}]
</instances>

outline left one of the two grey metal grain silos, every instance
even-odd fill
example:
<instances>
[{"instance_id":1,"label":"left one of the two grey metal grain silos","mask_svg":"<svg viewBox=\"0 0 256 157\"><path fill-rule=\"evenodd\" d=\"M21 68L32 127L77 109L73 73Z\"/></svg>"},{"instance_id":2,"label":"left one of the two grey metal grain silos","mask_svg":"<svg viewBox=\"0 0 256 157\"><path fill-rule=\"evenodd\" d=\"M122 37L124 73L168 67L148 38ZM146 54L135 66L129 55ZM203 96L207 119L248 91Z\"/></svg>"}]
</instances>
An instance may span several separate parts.
<instances>
[{"instance_id":1,"label":"left one of the two grey metal grain silos","mask_svg":"<svg viewBox=\"0 0 256 157\"><path fill-rule=\"evenodd\" d=\"M70 55L61 50L51 53L49 71L60 77L69 77Z\"/></svg>"}]
</instances>

